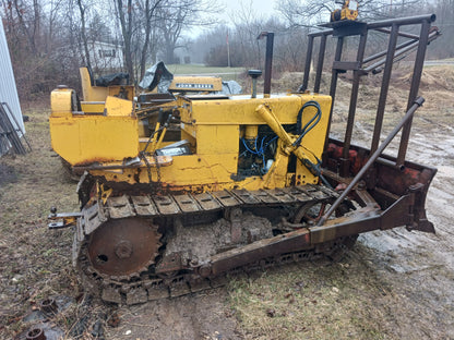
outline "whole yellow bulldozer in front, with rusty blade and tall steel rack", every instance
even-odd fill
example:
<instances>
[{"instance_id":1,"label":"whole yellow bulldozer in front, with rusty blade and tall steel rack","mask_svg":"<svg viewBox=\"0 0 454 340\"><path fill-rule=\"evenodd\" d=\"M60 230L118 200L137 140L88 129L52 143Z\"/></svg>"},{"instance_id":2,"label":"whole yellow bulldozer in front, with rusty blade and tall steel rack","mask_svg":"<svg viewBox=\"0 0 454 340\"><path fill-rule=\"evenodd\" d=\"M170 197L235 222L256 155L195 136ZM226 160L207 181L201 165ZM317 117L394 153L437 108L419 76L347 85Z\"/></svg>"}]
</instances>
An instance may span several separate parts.
<instances>
[{"instance_id":1,"label":"whole yellow bulldozer in front, with rusty blade and tall steel rack","mask_svg":"<svg viewBox=\"0 0 454 340\"><path fill-rule=\"evenodd\" d=\"M418 88L426 48L439 35L433 21L333 22L309 35L302 85L282 96L270 90L270 33L261 34L268 39L265 90L253 98L135 96L128 85L93 86L82 69L84 101L60 86L51 94L49 120L55 151L84 171L81 211L52 209L49 226L74 228L73 263L84 284L105 301L135 304L216 287L238 270L336 257L367 231L405 226L434 232L425 201L437 170L406 160L411 118L423 102ZM420 33L408 33L408 25ZM371 31L389 35L389 42L366 58ZM328 38L336 48L323 95ZM347 38L359 41L354 61L342 59ZM393 62L414 50L407 111L382 138L384 117L398 114L384 114ZM351 95L338 141L330 130L337 78L346 72ZM360 78L379 72L371 146L355 146ZM386 156L401 130L397 155Z\"/></svg>"}]
</instances>

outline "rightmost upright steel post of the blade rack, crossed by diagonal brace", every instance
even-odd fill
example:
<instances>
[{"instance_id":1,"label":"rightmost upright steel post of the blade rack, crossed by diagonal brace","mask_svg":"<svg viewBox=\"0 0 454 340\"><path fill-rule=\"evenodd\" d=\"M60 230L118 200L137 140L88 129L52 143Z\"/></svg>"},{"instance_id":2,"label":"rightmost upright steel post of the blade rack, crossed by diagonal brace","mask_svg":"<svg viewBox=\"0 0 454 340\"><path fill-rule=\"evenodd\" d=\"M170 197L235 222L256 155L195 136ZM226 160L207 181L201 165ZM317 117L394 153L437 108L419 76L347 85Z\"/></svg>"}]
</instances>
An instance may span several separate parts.
<instances>
[{"instance_id":1,"label":"rightmost upright steel post of the blade rack, crossed by diagonal brace","mask_svg":"<svg viewBox=\"0 0 454 340\"><path fill-rule=\"evenodd\" d=\"M408 95L407 109L411 107L415 101L416 96L418 96L419 84L421 82L422 68L425 65L425 57L427 50L427 44L429 41L429 31L430 31L430 19L426 19L421 24L421 33L419 39L418 51L416 53L415 68L413 71L411 87ZM404 125L401 136L401 145L398 147L398 155L396 160L396 166L403 166L405 162L405 156L407 154L408 138L410 137L413 119Z\"/></svg>"}]
</instances>

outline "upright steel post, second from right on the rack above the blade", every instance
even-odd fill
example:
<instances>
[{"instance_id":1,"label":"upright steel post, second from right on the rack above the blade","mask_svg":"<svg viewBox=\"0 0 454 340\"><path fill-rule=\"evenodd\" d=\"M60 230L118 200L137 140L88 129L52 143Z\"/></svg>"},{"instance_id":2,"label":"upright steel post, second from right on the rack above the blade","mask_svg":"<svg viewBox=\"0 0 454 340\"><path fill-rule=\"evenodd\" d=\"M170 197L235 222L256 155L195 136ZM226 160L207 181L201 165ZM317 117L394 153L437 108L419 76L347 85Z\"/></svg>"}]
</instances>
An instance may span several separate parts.
<instances>
[{"instance_id":1,"label":"upright steel post, second from right on the rack above the blade","mask_svg":"<svg viewBox=\"0 0 454 340\"><path fill-rule=\"evenodd\" d=\"M390 41L387 45L386 61L385 61L384 71L383 71L382 87L380 89L379 106L377 108L375 126L373 129L372 145L370 148L371 154L373 154L377 150L377 148L379 147L379 143L380 143L380 135L381 135L382 125L383 125L384 109L386 106L387 90L390 88L391 72L393 70L394 53L396 51L398 29L399 29L399 26L396 24L393 24L391 28Z\"/></svg>"}]
</instances>

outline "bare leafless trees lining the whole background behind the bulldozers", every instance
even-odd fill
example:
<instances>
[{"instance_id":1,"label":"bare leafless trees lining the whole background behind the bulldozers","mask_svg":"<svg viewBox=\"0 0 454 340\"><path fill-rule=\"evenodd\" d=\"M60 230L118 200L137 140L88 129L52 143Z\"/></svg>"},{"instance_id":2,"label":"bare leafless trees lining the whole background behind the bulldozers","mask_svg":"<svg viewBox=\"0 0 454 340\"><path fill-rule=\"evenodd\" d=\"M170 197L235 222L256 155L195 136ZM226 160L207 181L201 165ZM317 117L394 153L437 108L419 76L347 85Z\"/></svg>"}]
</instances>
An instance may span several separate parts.
<instances>
[{"instance_id":1,"label":"bare leafless trees lining the whole background behind the bulldozers","mask_svg":"<svg viewBox=\"0 0 454 340\"><path fill-rule=\"evenodd\" d=\"M128 72L132 83L158 59L177 62L178 49L189 54L187 62L260 68L264 42L256 37L264 31L275 33L275 68L301 71L306 35L338 7L335 1L284 0L276 15L265 20L246 4L219 24L217 14L225 9L207 0L1 0L1 17L17 90L27 99L57 84L77 87L82 64L95 74L106 72L101 56L94 52L100 42L121 50L120 68L108 71ZM359 11L361 20L437 13L445 41L434 44L431 56L454 57L454 0L362 0ZM191 38L194 27L205 31Z\"/></svg>"}]
</instances>

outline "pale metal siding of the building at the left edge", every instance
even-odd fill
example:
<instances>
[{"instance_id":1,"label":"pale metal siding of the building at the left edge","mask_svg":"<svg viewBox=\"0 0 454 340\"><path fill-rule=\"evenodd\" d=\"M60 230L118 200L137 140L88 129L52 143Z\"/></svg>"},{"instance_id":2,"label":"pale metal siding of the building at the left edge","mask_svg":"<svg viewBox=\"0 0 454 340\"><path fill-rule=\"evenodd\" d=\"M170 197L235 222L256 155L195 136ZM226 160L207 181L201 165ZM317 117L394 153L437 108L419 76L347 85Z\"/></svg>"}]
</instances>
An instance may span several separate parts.
<instances>
[{"instance_id":1,"label":"pale metal siding of the building at the left edge","mask_svg":"<svg viewBox=\"0 0 454 340\"><path fill-rule=\"evenodd\" d=\"M3 22L0 20L0 101L8 102L20 129L25 132L24 121L22 118L21 105L19 102L17 90L15 86L13 68L11 64L10 51L8 49L7 36L4 35ZM8 112L8 109L7 109ZM11 123L16 126L13 119ZM16 126L17 127L17 126ZM19 133L21 135L21 133ZM1 155L1 150L0 150Z\"/></svg>"}]
</instances>

